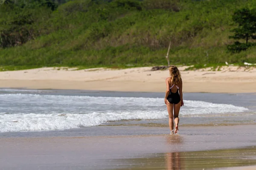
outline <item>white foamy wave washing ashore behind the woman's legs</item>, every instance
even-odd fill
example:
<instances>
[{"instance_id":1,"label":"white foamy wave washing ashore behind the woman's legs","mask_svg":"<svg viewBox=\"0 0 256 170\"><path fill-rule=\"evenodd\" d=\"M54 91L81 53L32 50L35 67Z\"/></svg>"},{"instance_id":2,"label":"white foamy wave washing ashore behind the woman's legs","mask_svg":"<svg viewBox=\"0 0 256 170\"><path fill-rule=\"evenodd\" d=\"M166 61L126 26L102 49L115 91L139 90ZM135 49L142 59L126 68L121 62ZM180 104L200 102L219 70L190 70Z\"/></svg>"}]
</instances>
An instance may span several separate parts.
<instances>
[{"instance_id":1,"label":"white foamy wave washing ashore behind the woman's legs","mask_svg":"<svg viewBox=\"0 0 256 170\"><path fill-rule=\"evenodd\" d=\"M0 132L65 130L108 121L166 119L163 98L0 94ZM247 108L184 100L180 116L235 113Z\"/></svg>"}]
</instances>

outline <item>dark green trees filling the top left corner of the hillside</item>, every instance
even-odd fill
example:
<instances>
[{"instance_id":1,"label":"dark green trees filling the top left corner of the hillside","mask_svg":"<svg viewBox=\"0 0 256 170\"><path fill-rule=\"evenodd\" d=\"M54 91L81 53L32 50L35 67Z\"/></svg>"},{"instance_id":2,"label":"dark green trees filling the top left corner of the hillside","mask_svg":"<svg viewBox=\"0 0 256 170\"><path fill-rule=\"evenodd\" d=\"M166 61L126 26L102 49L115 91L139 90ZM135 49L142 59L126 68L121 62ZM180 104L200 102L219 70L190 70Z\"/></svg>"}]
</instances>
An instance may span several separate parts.
<instances>
[{"instance_id":1,"label":"dark green trees filling the top left corner of the hillside","mask_svg":"<svg viewBox=\"0 0 256 170\"><path fill-rule=\"evenodd\" d=\"M22 45L39 34L38 23L49 16L52 6L38 3L39 1L29 2L5 0L0 5L0 48Z\"/></svg>"}]
</instances>

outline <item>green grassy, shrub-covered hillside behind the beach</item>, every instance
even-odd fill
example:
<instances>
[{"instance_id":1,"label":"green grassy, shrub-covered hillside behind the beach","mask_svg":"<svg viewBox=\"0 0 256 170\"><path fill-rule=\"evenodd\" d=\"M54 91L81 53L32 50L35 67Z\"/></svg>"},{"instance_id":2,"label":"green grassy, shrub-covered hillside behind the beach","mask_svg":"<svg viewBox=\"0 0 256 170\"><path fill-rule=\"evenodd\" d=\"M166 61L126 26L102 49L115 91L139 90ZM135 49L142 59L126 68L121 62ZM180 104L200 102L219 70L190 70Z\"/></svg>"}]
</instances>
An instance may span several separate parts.
<instances>
[{"instance_id":1,"label":"green grassy, shrub-covered hillside behind the beach","mask_svg":"<svg viewBox=\"0 0 256 170\"><path fill-rule=\"evenodd\" d=\"M234 12L256 0L2 1L3 68L166 65L170 41L171 64L256 63L256 47L226 47Z\"/></svg>"}]
</instances>

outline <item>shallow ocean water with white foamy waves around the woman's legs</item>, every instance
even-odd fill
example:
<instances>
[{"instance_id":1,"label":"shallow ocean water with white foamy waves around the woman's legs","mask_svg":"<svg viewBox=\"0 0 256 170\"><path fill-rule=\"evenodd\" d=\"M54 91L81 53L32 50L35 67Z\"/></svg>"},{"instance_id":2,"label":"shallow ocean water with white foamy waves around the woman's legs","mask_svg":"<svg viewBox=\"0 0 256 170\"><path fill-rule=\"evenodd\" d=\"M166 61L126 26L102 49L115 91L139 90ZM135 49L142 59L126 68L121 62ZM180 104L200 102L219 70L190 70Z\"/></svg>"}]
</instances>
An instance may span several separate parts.
<instances>
[{"instance_id":1,"label":"shallow ocean water with white foamy waves around the woman's legs","mask_svg":"<svg viewBox=\"0 0 256 170\"><path fill-rule=\"evenodd\" d=\"M88 130L84 127L99 125L166 124L168 113L163 96L163 93L0 89L0 136ZM255 94L191 93L183 98L185 105L180 110L183 125L211 125L215 121L256 123ZM90 130L93 129L96 128Z\"/></svg>"}]
</instances>

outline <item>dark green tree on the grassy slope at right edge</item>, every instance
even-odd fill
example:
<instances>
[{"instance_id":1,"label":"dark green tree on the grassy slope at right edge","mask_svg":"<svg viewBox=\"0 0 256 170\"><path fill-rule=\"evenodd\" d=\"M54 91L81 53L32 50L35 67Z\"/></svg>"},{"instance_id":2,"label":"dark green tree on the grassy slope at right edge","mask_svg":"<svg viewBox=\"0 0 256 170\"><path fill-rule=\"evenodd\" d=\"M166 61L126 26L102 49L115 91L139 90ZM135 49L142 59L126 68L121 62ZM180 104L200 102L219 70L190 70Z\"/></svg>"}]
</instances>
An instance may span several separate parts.
<instances>
[{"instance_id":1,"label":"dark green tree on the grassy slope at right edge","mask_svg":"<svg viewBox=\"0 0 256 170\"><path fill-rule=\"evenodd\" d=\"M233 21L238 23L238 27L231 30L234 35L229 38L234 40L245 40L245 43L236 41L233 45L227 45L227 49L233 53L244 51L256 43L249 40L256 40L256 9L242 8L234 12Z\"/></svg>"}]
</instances>

